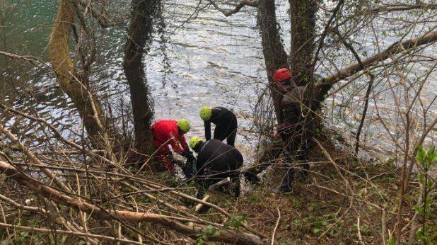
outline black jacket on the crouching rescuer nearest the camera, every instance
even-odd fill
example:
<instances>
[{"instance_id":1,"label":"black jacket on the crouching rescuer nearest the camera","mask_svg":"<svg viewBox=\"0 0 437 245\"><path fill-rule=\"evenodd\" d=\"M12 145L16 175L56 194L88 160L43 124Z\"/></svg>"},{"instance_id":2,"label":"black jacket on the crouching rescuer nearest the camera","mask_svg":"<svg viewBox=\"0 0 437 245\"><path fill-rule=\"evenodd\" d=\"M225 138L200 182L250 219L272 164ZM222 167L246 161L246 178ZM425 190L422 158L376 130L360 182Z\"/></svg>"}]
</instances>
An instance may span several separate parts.
<instances>
[{"instance_id":1,"label":"black jacket on the crouching rescuer nearest the camera","mask_svg":"<svg viewBox=\"0 0 437 245\"><path fill-rule=\"evenodd\" d=\"M210 139L203 144L197 154L197 175L225 173L226 176L238 176L237 169L243 165L243 155L235 147Z\"/></svg>"}]
</instances>

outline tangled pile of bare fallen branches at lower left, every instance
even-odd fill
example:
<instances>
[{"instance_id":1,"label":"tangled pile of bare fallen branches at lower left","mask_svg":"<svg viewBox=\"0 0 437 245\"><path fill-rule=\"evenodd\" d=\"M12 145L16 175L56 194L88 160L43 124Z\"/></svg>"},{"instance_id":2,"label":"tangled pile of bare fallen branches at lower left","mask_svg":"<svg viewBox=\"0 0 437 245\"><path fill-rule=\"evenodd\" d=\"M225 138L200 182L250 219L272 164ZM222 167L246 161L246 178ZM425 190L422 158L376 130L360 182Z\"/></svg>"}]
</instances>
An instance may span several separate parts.
<instances>
[{"instance_id":1,"label":"tangled pile of bare fallen branches at lower left","mask_svg":"<svg viewBox=\"0 0 437 245\"><path fill-rule=\"evenodd\" d=\"M208 239L239 244L264 244L261 234L243 224L243 230L223 228L231 217L226 210L192 197L194 187L165 186L144 171L126 170L126 156L110 160L102 152L62 137L42 118L1 105L5 113L40 124L40 146L29 149L11 130L0 125L0 169L6 176L0 195L8 239L18 241L20 231L69 234L86 242L100 240L166 243ZM13 147L11 147L13 146ZM12 181L13 180L13 181ZM211 222L197 215L187 203L212 207L218 214ZM69 208L66 208L69 207ZM35 229L37 227L45 227ZM18 225L19 224L19 225ZM156 227L159 224L161 228ZM184 237L177 237L183 234ZM69 236L69 237L71 237ZM192 240L191 240L192 241Z\"/></svg>"}]
</instances>

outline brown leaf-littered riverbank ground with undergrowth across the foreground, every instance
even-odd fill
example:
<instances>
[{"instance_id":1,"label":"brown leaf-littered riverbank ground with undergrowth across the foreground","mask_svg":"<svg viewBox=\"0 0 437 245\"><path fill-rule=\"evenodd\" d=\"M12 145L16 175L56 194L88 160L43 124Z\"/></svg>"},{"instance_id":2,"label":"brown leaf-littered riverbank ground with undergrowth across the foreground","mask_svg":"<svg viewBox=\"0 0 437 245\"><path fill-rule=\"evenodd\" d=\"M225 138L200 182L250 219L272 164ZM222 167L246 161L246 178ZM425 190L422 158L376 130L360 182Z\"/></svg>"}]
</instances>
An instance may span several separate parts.
<instances>
[{"instance_id":1,"label":"brown leaf-littered riverbank ground with undergrowth across the foreground","mask_svg":"<svg viewBox=\"0 0 437 245\"><path fill-rule=\"evenodd\" d=\"M69 164L57 168L51 165L49 168L58 169L58 176L62 176L64 182L76 190L76 195L99 207L148 210L168 217L176 215L179 217L178 222L182 224L189 224L192 222L190 220L197 217L200 224L222 224L238 232L247 231L243 228L247 226L268 239L274 237L278 244L383 244L383 241L389 241L393 233L392 227L397 222L400 169L392 162L360 161L348 152L341 152L333 147L329 139L318 140L322 147L320 150L313 150L310 156L308 181L298 178L293 183L291 193L275 194L284 174L279 159L278 164L264 174L262 184L250 186L246 183L249 188L239 198L213 193L209 202L217 207L210 208L201 215L194 212L197 202L184 198L184 195L195 196L195 186L175 182L166 173L151 174L143 171L129 177L116 173L117 171L98 170L95 166L89 166L88 173L86 169L78 169ZM94 177L88 179L87 174ZM412 179L404 195L401 241L408 240L411 223L416 222L414 205L419 199L419 183L416 176L412 176ZM155 190L151 189L151 185L154 185ZM5 205L2 206L4 222L16 224L16 228L1 227L2 240L36 244L54 239L60 244L81 241L78 234L58 233L57 237L52 237L50 232L21 230L20 227L47 227L48 230L54 227L61 230L64 227L62 222L53 222L45 212L32 210L34 206L52 210L50 205L43 204L46 199L40 195L16 186L16 182L10 178L1 181L1 190L2 195L10 194L14 190L13 199L23 200L21 205L27 208L8 208L14 205L1 198L1 203ZM173 195L171 190L182 194ZM8 193L4 193L5 191ZM436 203L431 203L430 207L435 210ZM72 214L70 208L64 207L51 212L59 217ZM436 227L436 220L436 212L431 212L425 222L430 227ZM114 228L105 227L104 222L90 220L84 224L93 235L116 235L113 233ZM196 237L180 239L180 234L159 225L140 225L136 222L124 224L133 225L140 234L159 236L165 240L180 241L182 244L202 244L209 241L208 236L214 237L216 232L220 232L214 227L206 226ZM132 231L130 236L124 238L132 242L139 241L141 236L138 232ZM129 234L129 231L124 230L124 234Z\"/></svg>"}]
</instances>

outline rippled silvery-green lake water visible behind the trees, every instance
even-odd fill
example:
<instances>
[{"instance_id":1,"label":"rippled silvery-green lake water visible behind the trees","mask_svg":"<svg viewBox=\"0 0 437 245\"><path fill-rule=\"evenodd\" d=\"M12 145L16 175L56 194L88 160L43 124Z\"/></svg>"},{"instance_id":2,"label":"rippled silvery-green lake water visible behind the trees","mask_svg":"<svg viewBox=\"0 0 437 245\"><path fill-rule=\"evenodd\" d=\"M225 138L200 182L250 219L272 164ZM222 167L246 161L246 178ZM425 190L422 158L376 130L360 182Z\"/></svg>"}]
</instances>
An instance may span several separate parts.
<instances>
[{"instance_id":1,"label":"rippled silvery-green lake water visible behind the trees","mask_svg":"<svg viewBox=\"0 0 437 245\"><path fill-rule=\"evenodd\" d=\"M283 34L289 32L287 2L278 2L277 17L283 27ZM6 12L4 26L0 28L0 34L6 36L6 51L35 55L48 62L47 42L57 11L57 1L17 1L12 4L15 5ZM128 7L129 1L116 1L112 6L120 13ZM255 143L243 137L245 135L252 139L250 133L243 128L252 124L252 106L257 100L257 91L264 89L267 81L255 8L243 8L240 13L226 18L209 7L186 22L196 8L197 1L170 1L165 4L167 28L164 33L164 52L168 56L170 69L165 69L163 45L159 36L155 37L151 51L144 59L148 84L155 100L155 118L187 118L192 122L189 137L198 136L203 135L203 125L198 115L201 106L231 108L238 114L239 124L242 126L237 146L245 149L246 156L250 157L255 150ZM129 110L129 93L122 69L126 25L127 22L113 28L97 30L98 57L91 77L91 84L98 90L100 100L104 105L110 104L116 116L121 115L122 110ZM396 25L396 21L375 21L378 33L392 30ZM420 28L425 28L426 25L419 26L413 33L421 33ZM376 52L373 33L369 29L363 30L366 31L356 36L360 42L354 44L354 47L360 52L368 52L370 56ZM397 38L384 35L380 42L383 47L387 47L395 40ZM284 35L284 44L289 50L289 35ZM0 47L5 48L1 42ZM436 55L436 50L436 45L433 45L425 54ZM354 59L343 48L335 53L333 60L339 67L343 67ZM0 65L0 99L6 99L21 110L30 111L36 108L42 117L51 120L63 130L64 135L74 137L72 128L78 127L80 120L71 112L68 98L62 94L53 78L23 64L22 61L5 62L0 57ZM334 70L333 65L326 62L324 66L318 67L317 74L322 76ZM417 70L419 74L425 73L426 67L419 67ZM425 97L429 101L437 93L435 75L436 72L426 85ZM394 82L398 80L393 78ZM354 89L365 85L366 79L357 80L352 89L345 89L328 99L327 126L346 132L346 138L353 136L358 125L357 115L361 112L362 96L359 94L363 93L354 95ZM371 100L368 118L375 115L373 102L377 101L384 110L382 117L391 120L396 115L392 110L392 95L382 83L377 83L376 88L378 98ZM343 106L347 101L351 102L351 106ZM332 104L337 105L334 110L331 110ZM429 110L431 118L435 117L436 103L432 103ZM378 148L376 152L382 155L388 152L392 154L395 147L385 129L377 122L378 120L366 122L362 139L369 146ZM28 135L35 132L35 125L28 125L26 120L10 120L8 123L25 126ZM427 142L435 142L435 134L434 130Z\"/></svg>"}]
</instances>

